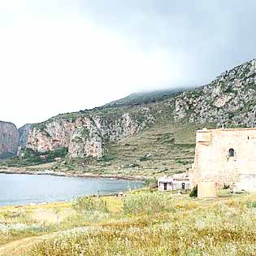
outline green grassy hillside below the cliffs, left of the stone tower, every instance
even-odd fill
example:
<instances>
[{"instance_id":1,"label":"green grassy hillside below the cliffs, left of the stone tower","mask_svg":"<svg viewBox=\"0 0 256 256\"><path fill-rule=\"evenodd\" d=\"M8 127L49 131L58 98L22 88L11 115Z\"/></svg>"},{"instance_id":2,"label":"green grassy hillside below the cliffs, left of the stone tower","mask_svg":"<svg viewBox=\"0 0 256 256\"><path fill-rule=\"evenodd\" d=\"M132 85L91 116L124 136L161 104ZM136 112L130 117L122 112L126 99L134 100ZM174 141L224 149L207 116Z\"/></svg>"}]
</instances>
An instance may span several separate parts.
<instances>
[{"instance_id":1,"label":"green grassy hillside below the cliffs, left of the stone tower","mask_svg":"<svg viewBox=\"0 0 256 256\"><path fill-rule=\"evenodd\" d=\"M215 124L207 124L215 127ZM103 158L73 158L54 163L58 171L100 175L162 176L184 172L194 157L195 132L202 124L158 122L136 135L111 143Z\"/></svg>"}]
</instances>

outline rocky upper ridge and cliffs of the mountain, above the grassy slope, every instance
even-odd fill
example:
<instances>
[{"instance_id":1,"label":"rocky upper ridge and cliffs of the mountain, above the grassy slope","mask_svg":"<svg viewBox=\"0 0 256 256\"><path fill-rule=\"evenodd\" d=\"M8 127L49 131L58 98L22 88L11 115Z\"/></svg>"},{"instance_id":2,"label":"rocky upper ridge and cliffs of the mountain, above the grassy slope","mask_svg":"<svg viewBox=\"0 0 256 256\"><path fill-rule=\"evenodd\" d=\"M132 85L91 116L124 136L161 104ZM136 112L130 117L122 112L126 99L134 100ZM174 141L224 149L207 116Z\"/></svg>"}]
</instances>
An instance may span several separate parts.
<instances>
[{"instance_id":1,"label":"rocky upper ridge and cliffs of the mountain, above the grassy slope","mask_svg":"<svg viewBox=\"0 0 256 256\"><path fill-rule=\"evenodd\" d=\"M0 154L5 150L14 154L18 147L19 154L25 149L45 152L67 148L70 158L101 158L111 143L163 120L212 123L216 127L254 127L256 60L223 72L209 85L197 89L132 94L93 110L57 115L41 124L27 124L19 129L18 135L10 126L13 138L7 141L12 145L2 146ZM1 126L0 134L6 134L1 133Z\"/></svg>"}]
</instances>

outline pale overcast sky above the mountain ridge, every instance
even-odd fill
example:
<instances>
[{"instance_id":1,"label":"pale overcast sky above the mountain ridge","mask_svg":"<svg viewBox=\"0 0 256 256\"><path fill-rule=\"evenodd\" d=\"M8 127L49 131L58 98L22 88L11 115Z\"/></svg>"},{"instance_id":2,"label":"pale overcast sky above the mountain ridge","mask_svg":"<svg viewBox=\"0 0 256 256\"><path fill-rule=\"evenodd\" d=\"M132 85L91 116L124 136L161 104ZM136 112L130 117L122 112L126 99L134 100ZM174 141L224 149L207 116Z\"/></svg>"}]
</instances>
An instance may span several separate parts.
<instances>
[{"instance_id":1,"label":"pale overcast sky above the mountain ridge","mask_svg":"<svg viewBox=\"0 0 256 256\"><path fill-rule=\"evenodd\" d=\"M253 0L0 0L0 119L206 85L256 58Z\"/></svg>"}]
</instances>

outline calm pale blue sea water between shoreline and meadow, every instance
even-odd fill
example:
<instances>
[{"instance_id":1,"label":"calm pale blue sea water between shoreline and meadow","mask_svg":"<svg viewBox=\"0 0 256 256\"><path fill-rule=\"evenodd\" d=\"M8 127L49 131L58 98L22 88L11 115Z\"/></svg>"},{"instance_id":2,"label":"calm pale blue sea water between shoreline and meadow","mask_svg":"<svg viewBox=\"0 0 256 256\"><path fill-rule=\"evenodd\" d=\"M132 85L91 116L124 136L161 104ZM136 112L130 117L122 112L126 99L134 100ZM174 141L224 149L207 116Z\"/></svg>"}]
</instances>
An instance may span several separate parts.
<instances>
[{"instance_id":1,"label":"calm pale blue sea water between shoreline and meadow","mask_svg":"<svg viewBox=\"0 0 256 256\"><path fill-rule=\"evenodd\" d=\"M0 205L71 200L141 188L138 181L48 175L0 174Z\"/></svg>"}]
</instances>

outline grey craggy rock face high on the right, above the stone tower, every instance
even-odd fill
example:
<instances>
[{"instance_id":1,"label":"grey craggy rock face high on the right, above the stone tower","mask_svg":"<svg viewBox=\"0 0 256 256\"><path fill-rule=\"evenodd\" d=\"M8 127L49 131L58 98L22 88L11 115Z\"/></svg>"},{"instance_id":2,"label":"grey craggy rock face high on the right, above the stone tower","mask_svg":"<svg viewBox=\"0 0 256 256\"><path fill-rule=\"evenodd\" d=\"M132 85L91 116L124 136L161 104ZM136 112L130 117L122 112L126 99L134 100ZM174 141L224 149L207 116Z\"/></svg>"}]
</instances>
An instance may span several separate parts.
<instances>
[{"instance_id":1,"label":"grey craggy rock face high on the right, above the stone tower","mask_svg":"<svg viewBox=\"0 0 256 256\"><path fill-rule=\"evenodd\" d=\"M171 100L176 120L214 122L218 126L256 124L256 60L223 72L209 85L181 93Z\"/></svg>"}]
</instances>

